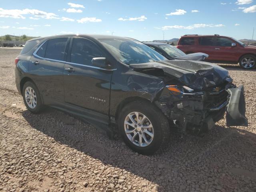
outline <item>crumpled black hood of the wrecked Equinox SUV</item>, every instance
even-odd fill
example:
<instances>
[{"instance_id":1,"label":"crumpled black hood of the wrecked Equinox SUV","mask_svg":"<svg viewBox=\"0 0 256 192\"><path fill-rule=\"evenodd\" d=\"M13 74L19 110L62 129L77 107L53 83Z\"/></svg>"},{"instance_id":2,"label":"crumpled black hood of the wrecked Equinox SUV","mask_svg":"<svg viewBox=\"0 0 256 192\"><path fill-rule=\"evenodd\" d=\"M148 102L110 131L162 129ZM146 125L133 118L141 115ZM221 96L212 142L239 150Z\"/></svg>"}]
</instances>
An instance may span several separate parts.
<instances>
[{"instance_id":1,"label":"crumpled black hood of the wrecked Equinox SUV","mask_svg":"<svg viewBox=\"0 0 256 192\"><path fill-rule=\"evenodd\" d=\"M230 82L228 70L212 63L189 60L164 60L143 64L130 64L133 68L160 68L166 76L176 78L190 88L203 90Z\"/></svg>"}]
</instances>

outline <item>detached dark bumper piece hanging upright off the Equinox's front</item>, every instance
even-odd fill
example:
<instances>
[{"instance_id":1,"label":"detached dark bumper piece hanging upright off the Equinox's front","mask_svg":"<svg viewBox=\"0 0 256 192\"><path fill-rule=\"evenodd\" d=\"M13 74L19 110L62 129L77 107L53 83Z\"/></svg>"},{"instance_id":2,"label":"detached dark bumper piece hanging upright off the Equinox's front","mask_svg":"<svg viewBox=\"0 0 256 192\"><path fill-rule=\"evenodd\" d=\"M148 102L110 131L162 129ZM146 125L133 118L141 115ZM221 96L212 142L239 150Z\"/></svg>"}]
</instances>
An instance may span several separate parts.
<instances>
[{"instance_id":1,"label":"detached dark bumper piece hanging upright off the Equinox's front","mask_svg":"<svg viewBox=\"0 0 256 192\"><path fill-rule=\"evenodd\" d=\"M226 109L227 126L248 126L248 120L245 117L244 86L230 88L228 92L230 97Z\"/></svg>"}]
</instances>

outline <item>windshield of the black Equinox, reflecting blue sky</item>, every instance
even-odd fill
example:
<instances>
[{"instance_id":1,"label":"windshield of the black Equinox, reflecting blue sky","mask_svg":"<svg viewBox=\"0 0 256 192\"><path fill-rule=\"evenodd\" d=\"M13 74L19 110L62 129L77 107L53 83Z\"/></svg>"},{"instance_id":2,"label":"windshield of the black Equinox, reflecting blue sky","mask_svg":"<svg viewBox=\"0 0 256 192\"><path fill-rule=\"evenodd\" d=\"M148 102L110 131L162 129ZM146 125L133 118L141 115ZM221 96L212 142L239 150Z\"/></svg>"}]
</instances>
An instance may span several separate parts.
<instances>
[{"instance_id":1,"label":"windshield of the black Equinox, reflecting blue sky","mask_svg":"<svg viewBox=\"0 0 256 192\"><path fill-rule=\"evenodd\" d=\"M124 64L140 64L167 60L164 56L133 39L99 39Z\"/></svg>"}]
</instances>

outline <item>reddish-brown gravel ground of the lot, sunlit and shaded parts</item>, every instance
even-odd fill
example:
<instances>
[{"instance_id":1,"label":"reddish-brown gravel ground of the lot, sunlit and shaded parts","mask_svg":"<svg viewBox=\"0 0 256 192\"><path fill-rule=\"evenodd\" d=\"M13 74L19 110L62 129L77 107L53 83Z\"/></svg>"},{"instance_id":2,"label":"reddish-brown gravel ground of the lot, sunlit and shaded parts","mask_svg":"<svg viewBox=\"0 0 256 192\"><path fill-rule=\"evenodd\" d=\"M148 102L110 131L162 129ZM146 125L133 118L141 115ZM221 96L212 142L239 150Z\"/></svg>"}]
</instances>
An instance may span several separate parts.
<instances>
[{"instance_id":1,"label":"reddish-brown gravel ground of the lot, sunlit and shaded parts","mask_svg":"<svg viewBox=\"0 0 256 192\"><path fill-rule=\"evenodd\" d=\"M256 70L222 65L244 84L248 128L221 120L142 156L58 110L28 112L15 86L19 52L0 48L0 191L256 191Z\"/></svg>"}]
</instances>

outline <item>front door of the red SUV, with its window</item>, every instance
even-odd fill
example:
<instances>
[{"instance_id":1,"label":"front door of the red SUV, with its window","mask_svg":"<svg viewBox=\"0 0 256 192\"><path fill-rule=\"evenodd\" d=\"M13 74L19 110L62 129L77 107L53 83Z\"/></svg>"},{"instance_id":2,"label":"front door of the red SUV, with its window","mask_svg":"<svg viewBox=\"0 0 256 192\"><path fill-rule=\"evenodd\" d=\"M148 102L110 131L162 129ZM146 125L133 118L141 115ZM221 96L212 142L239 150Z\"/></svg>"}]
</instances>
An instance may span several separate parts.
<instances>
[{"instance_id":1,"label":"front door of the red SUV, with its window","mask_svg":"<svg viewBox=\"0 0 256 192\"><path fill-rule=\"evenodd\" d=\"M222 61L236 61L237 46L232 47L233 40L226 37L217 37L216 44L214 46L214 52L216 60Z\"/></svg>"}]
</instances>

